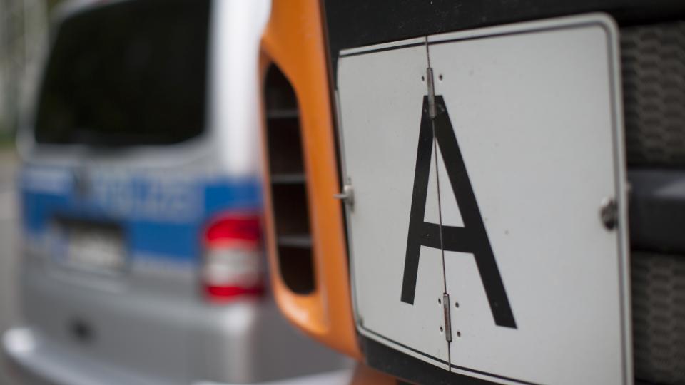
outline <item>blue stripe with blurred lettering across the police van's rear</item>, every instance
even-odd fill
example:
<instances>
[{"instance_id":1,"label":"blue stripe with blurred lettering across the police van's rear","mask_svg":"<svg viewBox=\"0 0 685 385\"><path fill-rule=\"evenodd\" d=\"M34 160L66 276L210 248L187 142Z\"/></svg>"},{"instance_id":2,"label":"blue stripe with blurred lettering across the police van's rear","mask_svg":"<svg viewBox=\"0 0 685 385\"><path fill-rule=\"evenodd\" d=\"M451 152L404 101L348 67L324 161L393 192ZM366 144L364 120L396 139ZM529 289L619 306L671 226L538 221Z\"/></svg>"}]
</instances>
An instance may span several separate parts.
<instances>
[{"instance_id":1,"label":"blue stripe with blurred lettering across the police van's rear","mask_svg":"<svg viewBox=\"0 0 685 385\"><path fill-rule=\"evenodd\" d=\"M24 231L31 239L49 232L54 217L121 224L133 257L193 262L201 253L207 222L227 210L260 210L257 178L158 178L93 176L89 193L78 193L65 168L26 167L20 175Z\"/></svg>"}]
</instances>

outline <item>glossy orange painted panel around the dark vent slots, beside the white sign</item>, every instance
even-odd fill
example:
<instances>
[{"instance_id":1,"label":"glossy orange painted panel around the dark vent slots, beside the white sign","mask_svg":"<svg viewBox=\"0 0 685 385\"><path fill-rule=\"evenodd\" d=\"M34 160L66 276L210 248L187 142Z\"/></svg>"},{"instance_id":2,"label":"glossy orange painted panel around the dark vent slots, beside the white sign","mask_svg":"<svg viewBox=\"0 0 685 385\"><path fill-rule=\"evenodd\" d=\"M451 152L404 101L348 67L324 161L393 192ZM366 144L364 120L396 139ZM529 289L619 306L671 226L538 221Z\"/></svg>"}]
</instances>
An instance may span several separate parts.
<instances>
[{"instance_id":1,"label":"glossy orange painted panel around the dark vent slots, beside the white sign","mask_svg":"<svg viewBox=\"0 0 685 385\"><path fill-rule=\"evenodd\" d=\"M291 292L278 274L274 224L270 215L265 219L268 254L275 272L271 274L275 299L290 322L323 344L360 359L342 206L333 198L340 191L340 183L326 60L318 0L274 0L262 39L260 66L262 79L270 63L278 66L298 98L315 291L311 294ZM268 162L264 164L268 165ZM268 178L268 173L265 175ZM268 180L265 185L269 185ZM265 198L266 212L273 212L269 189L265 189Z\"/></svg>"}]
</instances>

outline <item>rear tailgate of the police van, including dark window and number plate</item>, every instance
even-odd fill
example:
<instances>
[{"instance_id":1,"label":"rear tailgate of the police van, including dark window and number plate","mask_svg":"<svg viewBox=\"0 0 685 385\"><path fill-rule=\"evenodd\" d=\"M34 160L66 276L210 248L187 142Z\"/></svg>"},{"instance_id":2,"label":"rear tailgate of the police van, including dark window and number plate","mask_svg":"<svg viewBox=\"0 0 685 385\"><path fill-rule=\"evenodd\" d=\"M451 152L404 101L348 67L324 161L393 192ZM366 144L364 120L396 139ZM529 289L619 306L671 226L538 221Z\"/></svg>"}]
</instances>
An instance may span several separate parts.
<instances>
[{"instance_id":1,"label":"rear tailgate of the police van, including dark window and number plate","mask_svg":"<svg viewBox=\"0 0 685 385\"><path fill-rule=\"evenodd\" d=\"M60 348L188 383L202 232L225 204L205 138L210 1L68 12L23 143L26 319Z\"/></svg>"}]
</instances>

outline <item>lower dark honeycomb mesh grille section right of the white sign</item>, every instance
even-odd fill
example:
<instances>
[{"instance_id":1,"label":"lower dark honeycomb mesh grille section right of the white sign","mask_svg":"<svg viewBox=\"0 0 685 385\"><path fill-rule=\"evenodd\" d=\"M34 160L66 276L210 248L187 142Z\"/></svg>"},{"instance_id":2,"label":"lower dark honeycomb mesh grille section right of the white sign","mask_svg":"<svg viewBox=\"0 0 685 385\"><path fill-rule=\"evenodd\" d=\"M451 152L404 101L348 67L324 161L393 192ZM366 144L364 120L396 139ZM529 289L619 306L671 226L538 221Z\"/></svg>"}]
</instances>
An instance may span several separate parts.
<instances>
[{"instance_id":1,"label":"lower dark honeycomb mesh grille section right of the white sign","mask_svg":"<svg viewBox=\"0 0 685 385\"><path fill-rule=\"evenodd\" d=\"M685 384L685 258L631 257L635 377Z\"/></svg>"}]
</instances>

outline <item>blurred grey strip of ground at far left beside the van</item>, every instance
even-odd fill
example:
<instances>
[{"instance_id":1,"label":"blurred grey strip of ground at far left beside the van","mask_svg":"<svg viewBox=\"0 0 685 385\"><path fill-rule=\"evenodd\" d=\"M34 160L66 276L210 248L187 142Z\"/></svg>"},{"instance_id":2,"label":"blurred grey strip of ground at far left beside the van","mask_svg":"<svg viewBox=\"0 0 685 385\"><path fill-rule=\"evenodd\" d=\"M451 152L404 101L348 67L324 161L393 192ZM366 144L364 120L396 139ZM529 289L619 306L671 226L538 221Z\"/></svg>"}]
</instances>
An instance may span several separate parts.
<instances>
[{"instance_id":1,"label":"blurred grey strip of ground at far left beside the van","mask_svg":"<svg viewBox=\"0 0 685 385\"><path fill-rule=\"evenodd\" d=\"M19 273L16 248L19 225L15 189L16 155L14 150L0 149L0 332L19 322L16 279ZM6 373L0 354L0 384L16 385Z\"/></svg>"}]
</instances>

